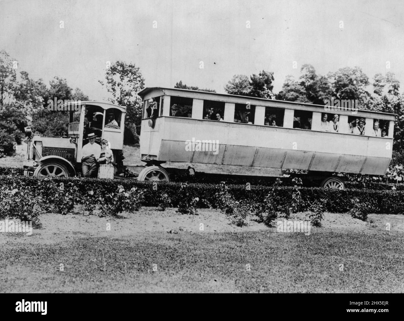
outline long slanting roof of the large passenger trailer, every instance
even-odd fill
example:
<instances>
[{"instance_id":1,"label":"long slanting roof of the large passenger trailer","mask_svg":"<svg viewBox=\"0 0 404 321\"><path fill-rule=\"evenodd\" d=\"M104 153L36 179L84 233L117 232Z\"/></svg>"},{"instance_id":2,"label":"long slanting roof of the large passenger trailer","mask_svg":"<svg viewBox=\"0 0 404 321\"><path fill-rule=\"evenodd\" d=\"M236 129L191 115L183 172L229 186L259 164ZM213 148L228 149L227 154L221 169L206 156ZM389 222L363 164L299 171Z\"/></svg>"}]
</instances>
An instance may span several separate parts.
<instances>
[{"instance_id":1,"label":"long slanting roof of the large passenger trailer","mask_svg":"<svg viewBox=\"0 0 404 321\"><path fill-rule=\"evenodd\" d=\"M293 104L293 105L301 105L301 106L311 106L311 107L321 107L324 108L324 105L317 105L317 104L308 104L305 102L289 102L286 100L276 100L276 99L266 99L266 98L257 98L257 97L249 97L249 96L239 96L239 95L231 95L231 94L219 94L219 93L214 93L210 91L201 91L201 90L191 90L191 89L183 89L183 88L168 88L168 87L146 87L145 89L142 89L139 91L138 95L143 99L147 94L151 91L162 91L163 94L170 96L170 93L167 91L178 91L178 92L183 92L186 96L188 97L193 97L193 98L200 98L200 99L208 99L208 96L217 96L221 97L220 100L225 101L226 97L230 98L229 100L240 100L240 103L245 103L245 100L248 100L250 104L255 104L259 105L259 102L276 102L276 104L281 105L283 108L287 108L287 106ZM215 100L214 98L210 98L212 100ZM264 104L265 106L266 104ZM383 113L379 111L370 111L366 109L359 109L358 111L360 112L366 112L366 113L375 113L375 114L381 114L381 115L391 115L394 116L396 114L392 113ZM332 113L333 111L328 111L328 113ZM338 111L335 111L337 113Z\"/></svg>"}]
</instances>

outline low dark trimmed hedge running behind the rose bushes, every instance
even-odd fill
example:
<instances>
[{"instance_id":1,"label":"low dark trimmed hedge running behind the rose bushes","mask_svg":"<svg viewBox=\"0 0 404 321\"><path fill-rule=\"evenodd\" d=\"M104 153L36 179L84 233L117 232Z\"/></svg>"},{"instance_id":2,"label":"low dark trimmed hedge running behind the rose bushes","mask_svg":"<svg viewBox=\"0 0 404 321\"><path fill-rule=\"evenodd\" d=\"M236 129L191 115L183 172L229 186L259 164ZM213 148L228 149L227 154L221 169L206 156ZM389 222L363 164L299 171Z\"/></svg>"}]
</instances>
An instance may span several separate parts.
<instances>
[{"instance_id":1,"label":"low dark trimmed hedge running behind the rose bushes","mask_svg":"<svg viewBox=\"0 0 404 321\"><path fill-rule=\"evenodd\" d=\"M55 185L48 189L44 185L42 178L38 177L13 177L0 176L0 186L11 186L13 183L22 184L29 187L37 195L47 198L61 191L55 188ZM132 187L137 187L143 191L145 199L144 206L158 206L159 198L162 193L166 193L171 199L171 204L177 207L181 201L181 183L157 183L139 182L134 179L77 179L77 178L55 178L52 179L57 185L62 183L73 183L78 188L78 192L88 194L93 191L91 197L97 199L104 198L110 193L114 193L119 185L122 185L126 191ZM251 185L250 189L246 185L228 185L228 191L236 200L246 202L263 202L273 187ZM198 207L206 207L206 202L215 206L217 203L216 193L220 191L219 184L191 184L186 187L190 195L199 198ZM369 202L373 213L404 213L404 191L380 191L365 189L322 189L318 187L301 187L301 196L305 204L302 205L302 211L308 210L308 205L316 200L324 200L324 210L332 213L346 213L352 207L351 200L357 199L357 202ZM292 201L293 187L276 187L276 193L285 204ZM35 195L35 194L34 194Z\"/></svg>"}]
</instances>

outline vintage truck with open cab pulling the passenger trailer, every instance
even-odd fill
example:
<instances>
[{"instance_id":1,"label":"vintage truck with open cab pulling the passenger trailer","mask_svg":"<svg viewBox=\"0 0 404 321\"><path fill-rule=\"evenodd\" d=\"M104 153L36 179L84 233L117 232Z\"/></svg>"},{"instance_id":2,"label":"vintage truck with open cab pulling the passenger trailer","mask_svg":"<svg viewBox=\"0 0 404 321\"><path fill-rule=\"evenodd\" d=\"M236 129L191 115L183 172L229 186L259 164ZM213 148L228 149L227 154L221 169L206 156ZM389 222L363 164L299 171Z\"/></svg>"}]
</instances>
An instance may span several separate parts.
<instances>
[{"instance_id":1,"label":"vintage truck with open cab pulling the passenger trailer","mask_svg":"<svg viewBox=\"0 0 404 321\"><path fill-rule=\"evenodd\" d=\"M23 165L24 175L56 177L79 175L82 147L88 143L87 134L91 132L101 136L96 143L99 143L101 138L109 141L114 154L114 175L124 172L125 157L122 148L126 107L107 102L68 102L63 106L65 110L70 111L67 137L40 137L32 135L31 128L25 128L28 146ZM93 117L94 114L97 114L97 119Z\"/></svg>"}]
</instances>

